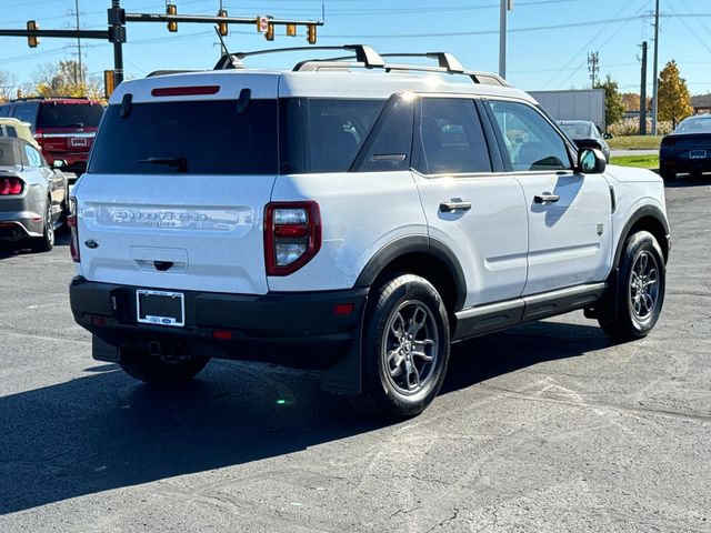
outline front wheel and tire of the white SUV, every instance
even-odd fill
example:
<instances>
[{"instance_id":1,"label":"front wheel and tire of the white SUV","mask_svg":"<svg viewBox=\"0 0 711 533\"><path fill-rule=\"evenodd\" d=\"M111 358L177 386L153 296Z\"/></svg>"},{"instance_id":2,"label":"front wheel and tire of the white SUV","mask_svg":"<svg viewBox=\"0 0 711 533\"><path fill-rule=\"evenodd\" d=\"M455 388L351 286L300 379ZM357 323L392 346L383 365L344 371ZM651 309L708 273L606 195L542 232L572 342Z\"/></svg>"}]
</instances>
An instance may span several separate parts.
<instances>
[{"instance_id":1,"label":"front wheel and tire of the white SUV","mask_svg":"<svg viewBox=\"0 0 711 533\"><path fill-rule=\"evenodd\" d=\"M615 301L598 322L617 341L642 339L659 320L667 285L664 257L654 235L640 231L629 237L619 268Z\"/></svg>"}]
</instances>

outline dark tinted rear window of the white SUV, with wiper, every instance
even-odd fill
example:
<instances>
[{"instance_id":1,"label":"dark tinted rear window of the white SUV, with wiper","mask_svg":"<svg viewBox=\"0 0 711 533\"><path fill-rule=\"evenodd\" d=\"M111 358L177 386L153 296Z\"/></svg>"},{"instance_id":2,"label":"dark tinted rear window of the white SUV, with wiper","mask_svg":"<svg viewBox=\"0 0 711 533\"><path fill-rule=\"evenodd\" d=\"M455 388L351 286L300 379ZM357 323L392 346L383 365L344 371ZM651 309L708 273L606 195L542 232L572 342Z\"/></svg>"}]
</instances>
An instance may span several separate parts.
<instances>
[{"instance_id":1,"label":"dark tinted rear window of the white SUV, with wiper","mask_svg":"<svg viewBox=\"0 0 711 533\"><path fill-rule=\"evenodd\" d=\"M109 105L89 172L102 174L276 174L277 100Z\"/></svg>"}]
</instances>

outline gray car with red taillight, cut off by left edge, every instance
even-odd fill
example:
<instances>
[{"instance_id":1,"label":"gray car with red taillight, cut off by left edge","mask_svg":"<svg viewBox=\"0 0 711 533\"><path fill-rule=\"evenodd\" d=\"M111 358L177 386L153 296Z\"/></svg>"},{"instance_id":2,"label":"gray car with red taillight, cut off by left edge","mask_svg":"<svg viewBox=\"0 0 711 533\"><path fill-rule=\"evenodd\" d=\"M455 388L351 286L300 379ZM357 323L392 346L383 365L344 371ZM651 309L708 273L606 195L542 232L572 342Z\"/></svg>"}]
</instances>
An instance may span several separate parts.
<instances>
[{"instance_id":1,"label":"gray car with red taillight, cut off by left edge","mask_svg":"<svg viewBox=\"0 0 711 533\"><path fill-rule=\"evenodd\" d=\"M0 243L51 250L68 194L67 177L37 148L24 139L0 138Z\"/></svg>"}]
</instances>

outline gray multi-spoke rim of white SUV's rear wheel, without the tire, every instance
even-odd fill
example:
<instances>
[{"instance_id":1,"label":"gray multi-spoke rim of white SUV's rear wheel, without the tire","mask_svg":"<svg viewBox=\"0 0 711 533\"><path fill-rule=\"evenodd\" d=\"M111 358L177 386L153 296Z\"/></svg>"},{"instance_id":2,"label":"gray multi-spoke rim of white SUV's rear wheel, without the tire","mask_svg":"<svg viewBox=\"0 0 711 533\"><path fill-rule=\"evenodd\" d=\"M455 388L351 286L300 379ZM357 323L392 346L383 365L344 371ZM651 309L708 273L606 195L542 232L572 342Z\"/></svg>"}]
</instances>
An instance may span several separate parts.
<instances>
[{"instance_id":1,"label":"gray multi-spoke rim of white SUV's rear wheel, without the tire","mask_svg":"<svg viewBox=\"0 0 711 533\"><path fill-rule=\"evenodd\" d=\"M383 369L390 384L411 395L429 384L438 358L437 322L419 300L402 302L390 315L382 339Z\"/></svg>"}]
</instances>

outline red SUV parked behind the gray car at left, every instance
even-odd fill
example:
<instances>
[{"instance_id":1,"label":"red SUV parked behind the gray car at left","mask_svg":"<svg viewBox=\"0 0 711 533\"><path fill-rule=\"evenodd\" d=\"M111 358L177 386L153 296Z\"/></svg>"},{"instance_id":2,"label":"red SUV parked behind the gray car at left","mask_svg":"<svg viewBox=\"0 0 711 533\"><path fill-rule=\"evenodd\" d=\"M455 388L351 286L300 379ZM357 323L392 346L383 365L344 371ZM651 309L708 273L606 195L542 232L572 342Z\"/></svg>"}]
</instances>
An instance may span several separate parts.
<instances>
[{"instance_id":1,"label":"red SUV parked behind the gray car at left","mask_svg":"<svg viewBox=\"0 0 711 533\"><path fill-rule=\"evenodd\" d=\"M77 175L87 168L102 115L101 103L86 98L30 98L0 105L0 117L14 117L30 124L50 164L64 161L64 171Z\"/></svg>"}]
</instances>

